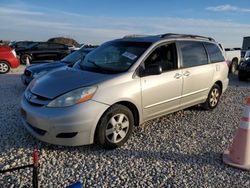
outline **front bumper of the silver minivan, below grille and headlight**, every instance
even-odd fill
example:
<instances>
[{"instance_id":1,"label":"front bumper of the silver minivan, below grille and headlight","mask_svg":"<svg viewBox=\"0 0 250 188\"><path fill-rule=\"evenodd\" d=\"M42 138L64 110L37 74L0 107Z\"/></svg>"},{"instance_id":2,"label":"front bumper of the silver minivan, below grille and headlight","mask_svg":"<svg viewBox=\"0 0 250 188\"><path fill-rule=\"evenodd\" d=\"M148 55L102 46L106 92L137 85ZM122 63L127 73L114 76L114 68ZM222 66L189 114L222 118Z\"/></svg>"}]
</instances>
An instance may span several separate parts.
<instances>
[{"instance_id":1,"label":"front bumper of the silver minivan, below grille and headlight","mask_svg":"<svg viewBox=\"0 0 250 188\"><path fill-rule=\"evenodd\" d=\"M32 105L23 97L21 115L25 128L37 139L55 145L79 146L93 143L98 120L108 107L90 100L71 107L48 108Z\"/></svg>"}]
</instances>

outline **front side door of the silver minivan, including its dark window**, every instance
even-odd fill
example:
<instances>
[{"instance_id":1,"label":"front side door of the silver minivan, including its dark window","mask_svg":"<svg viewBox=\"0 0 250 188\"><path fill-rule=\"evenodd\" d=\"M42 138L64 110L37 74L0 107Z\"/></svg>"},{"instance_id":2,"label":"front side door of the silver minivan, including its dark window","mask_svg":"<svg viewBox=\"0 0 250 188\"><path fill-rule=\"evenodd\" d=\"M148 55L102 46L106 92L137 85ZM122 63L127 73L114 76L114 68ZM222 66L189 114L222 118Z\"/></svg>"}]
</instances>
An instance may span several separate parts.
<instances>
[{"instance_id":1,"label":"front side door of the silver minivan, including its dark window","mask_svg":"<svg viewBox=\"0 0 250 188\"><path fill-rule=\"evenodd\" d=\"M162 73L150 75L150 65L160 65ZM145 72L141 77L144 120L175 111L180 106L182 74L178 69L175 43L164 44L152 51L144 61Z\"/></svg>"}]
</instances>

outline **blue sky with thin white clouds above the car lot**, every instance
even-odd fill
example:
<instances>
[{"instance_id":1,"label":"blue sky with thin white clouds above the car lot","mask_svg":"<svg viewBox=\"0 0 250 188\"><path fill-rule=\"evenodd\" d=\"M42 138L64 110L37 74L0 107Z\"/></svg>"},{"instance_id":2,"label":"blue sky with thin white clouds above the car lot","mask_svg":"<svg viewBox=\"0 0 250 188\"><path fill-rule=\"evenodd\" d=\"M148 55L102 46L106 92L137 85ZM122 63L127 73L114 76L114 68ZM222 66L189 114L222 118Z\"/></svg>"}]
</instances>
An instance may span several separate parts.
<instances>
[{"instance_id":1,"label":"blue sky with thin white clouds above the car lot","mask_svg":"<svg viewBox=\"0 0 250 188\"><path fill-rule=\"evenodd\" d=\"M182 33L241 47L249 18L249 0L0 0L0 39L101 44L129 34Z\"/></svg>"}]
</instances>

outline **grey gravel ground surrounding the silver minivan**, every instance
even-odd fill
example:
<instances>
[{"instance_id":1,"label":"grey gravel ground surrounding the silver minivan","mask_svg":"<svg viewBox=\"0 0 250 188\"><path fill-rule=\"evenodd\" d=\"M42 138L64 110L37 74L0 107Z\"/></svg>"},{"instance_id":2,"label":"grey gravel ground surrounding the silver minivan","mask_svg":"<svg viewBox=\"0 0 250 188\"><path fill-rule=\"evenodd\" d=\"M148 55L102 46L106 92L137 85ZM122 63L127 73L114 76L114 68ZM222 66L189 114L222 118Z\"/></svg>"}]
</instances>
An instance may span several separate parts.
<instances>
[{"instance_id":1,"label":"grey gravel ground surrounding the silver minivan","mask_svg":"<svg viewBox=\"0 0 250 188\"><path fill-rule=\"evenodd\" d=\"M226 166L222 153L239 126L250 81L230 75L218 108L199 107L163 116L137 127L121 148L62 147L34 139L22 126L21 67L0 75L0 169L31 163L40 153L40 187L250 187L250 172ZM31 187L29 169L0 175L0 187Z\"/></svg>"}]
</instances>

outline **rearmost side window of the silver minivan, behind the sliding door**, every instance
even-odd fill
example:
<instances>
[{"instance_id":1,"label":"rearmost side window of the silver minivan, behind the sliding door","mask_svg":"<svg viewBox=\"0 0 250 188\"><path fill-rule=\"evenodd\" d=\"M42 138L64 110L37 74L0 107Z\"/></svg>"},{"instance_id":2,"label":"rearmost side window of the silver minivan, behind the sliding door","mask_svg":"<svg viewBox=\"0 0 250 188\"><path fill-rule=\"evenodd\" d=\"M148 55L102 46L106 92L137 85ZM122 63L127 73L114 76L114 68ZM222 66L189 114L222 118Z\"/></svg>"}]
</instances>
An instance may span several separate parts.
<instances>
[{"instance_id":1,"label":"rearmost side window of the silver minivan, behind the sliding door","mask_svg":"<svg viewBox=\"0 0 250 188\"><path fill-rule=\"evenodd\" d=\"M204 45L208 51L211 63L225 61L221 50L219 49L219 47L216 44L206 42L206 43L204 43Z\"/></svg>"}]
</instances>

